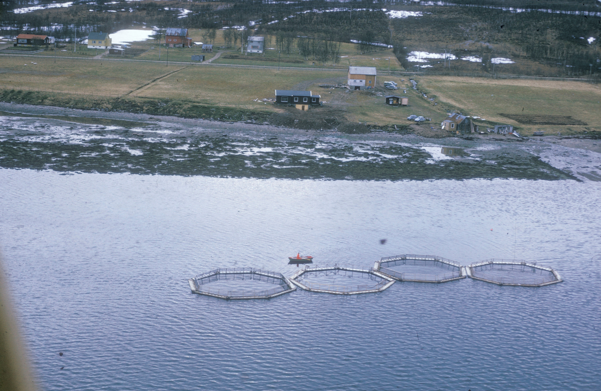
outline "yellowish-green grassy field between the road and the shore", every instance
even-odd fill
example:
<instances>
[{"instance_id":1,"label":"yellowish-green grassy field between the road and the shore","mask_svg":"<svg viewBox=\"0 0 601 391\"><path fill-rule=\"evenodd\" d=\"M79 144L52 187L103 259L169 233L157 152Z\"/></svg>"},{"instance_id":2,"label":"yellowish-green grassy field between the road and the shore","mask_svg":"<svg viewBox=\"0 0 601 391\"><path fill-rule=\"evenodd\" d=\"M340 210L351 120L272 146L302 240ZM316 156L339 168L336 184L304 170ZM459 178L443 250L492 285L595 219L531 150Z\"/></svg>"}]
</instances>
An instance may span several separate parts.
<instances>
[{"instance_id":1,"label":"yellowish-green grassy field between the road and the shore","mask_svg":"<svg viewBox=\"0 0 601 391\"><path fill-rule=\"evenodd\" d=\"M150 61L89 58L40 57L31 61L31 57L3 57L2 60L0 90L4 91L44 91L56 96L120 97L145 102L164 100L248 112L282 112L282 106L262 99L274 99L276 89L311 90L320 94L325 104L308 112L308 116L311 112L332 109L350 122L370 125L407 124L406 117L416 114L432 119L422 128L438 129L448 111L459 111L481 117L476 123L484 127L510 124L525 135L538 130L548 134L601 131L601 88L584 82L416 76L419 89L416 91L409 78L380 73L374 90L349 91L319 87L319 84L346 82L346 69L278 71L207 64L167 67ZM385 90L383 82L387 80L397 82L399 90ZM409 97L409 106L386 105L387 94ZM432 98L433 101L429 100ZM587 125L519 123L501 114L570 116Z\"/></svg>"}]
</instances>

